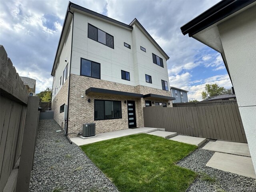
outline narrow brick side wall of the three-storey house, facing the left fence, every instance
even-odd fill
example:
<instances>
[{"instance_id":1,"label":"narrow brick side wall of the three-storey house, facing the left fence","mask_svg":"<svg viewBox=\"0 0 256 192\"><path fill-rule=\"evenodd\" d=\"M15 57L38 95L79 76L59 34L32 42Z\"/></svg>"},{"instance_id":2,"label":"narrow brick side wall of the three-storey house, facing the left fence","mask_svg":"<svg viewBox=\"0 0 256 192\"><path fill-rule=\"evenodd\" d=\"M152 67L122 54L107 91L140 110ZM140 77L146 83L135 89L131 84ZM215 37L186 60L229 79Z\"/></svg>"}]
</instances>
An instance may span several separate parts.
<instances>
[{"instance_id":1,"label":"narrow brick side wall of the three-storey house, facing the left fence","mask_svg":"<svg viewBox=\"0 0 256 192\"><path fill-rule=\"evenodd\" d=\"M60 113L60 106L68 104L68 81L64 82L57 95L52 100L52 110L54 111L54 120L64 128L64 112Z\"/></svg>"}]
</instances>

